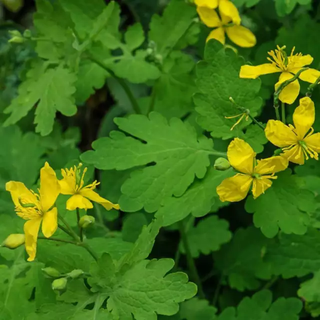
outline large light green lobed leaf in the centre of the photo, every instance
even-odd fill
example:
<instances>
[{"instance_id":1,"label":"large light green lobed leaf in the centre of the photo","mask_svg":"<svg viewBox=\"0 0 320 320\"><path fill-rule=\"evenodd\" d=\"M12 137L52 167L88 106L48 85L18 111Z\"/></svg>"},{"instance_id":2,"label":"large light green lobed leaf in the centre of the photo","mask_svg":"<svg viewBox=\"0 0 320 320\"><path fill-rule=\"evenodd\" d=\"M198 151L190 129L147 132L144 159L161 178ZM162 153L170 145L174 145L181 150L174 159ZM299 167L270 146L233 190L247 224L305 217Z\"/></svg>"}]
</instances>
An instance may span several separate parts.
<instances>
[{"instance_id":1,"label":"large light green lobed leaf in the centre of the photo","mask_svg":"<svg viewBox=\"0 0 320 320\"><path fill-rule=\"evenodd\" d=\"M155 162L133 171L124 182L119 199L122 210L144 207L153 212L172 194L183 194L195 176L205 175L208 155L213 152L212 141L204 136L197 138L190 124L177 118L167 122L156 112L149 117L133 114L116 118L115 122L120 130L139 140L112 131L109 138L94 141L95 151L85 152L81 159L99 169L117 170Z\"/></svg>"}]
</instances>

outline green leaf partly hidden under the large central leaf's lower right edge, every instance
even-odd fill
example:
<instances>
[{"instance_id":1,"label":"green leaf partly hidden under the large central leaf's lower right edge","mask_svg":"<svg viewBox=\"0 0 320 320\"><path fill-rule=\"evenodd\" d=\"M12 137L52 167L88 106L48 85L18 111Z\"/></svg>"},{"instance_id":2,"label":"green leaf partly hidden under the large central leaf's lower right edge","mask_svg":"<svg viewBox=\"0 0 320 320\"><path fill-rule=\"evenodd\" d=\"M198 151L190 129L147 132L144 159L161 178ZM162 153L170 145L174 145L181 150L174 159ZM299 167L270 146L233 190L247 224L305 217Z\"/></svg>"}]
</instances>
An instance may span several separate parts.
<instances>
[{"instance_id":1,"label":"green leaf partly hidden under the large central leaf's lower right edge","mask_svg":"<svg viewBox=\"0 0 320 320\"><path fill-rule=\"evenodd\" d=\"M220 206L221 201L215 192L223 179L234 174L232 169L218 171L210 167L202 180L196 180L180 197L166 199L155 216L163 218L163 225L170 225L184 219L189 213L193 216L203 216L211 207Z\"/></svg>"}]
</instances>

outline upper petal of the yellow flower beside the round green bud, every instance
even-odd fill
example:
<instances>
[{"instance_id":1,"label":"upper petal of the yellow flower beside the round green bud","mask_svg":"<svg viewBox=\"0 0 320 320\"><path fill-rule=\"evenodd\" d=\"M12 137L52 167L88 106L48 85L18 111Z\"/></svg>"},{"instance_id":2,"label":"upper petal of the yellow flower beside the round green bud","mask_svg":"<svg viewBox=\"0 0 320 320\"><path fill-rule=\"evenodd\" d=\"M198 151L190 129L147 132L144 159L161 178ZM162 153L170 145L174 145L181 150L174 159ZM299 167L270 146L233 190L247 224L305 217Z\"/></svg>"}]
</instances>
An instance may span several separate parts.
<instances>
[{"instance_id":1,"label":"upper petal of the yellow flower beside the round green bud","mask_svg":"<svg viewBox=\"0 0 320 320\"><path fill-rule=\"evenodd\" d=\"M253 162L255 152L245 141L234 138L228 145L228 160L237 171L251 174L253 172Z\"/></svg>"}]
</instances>

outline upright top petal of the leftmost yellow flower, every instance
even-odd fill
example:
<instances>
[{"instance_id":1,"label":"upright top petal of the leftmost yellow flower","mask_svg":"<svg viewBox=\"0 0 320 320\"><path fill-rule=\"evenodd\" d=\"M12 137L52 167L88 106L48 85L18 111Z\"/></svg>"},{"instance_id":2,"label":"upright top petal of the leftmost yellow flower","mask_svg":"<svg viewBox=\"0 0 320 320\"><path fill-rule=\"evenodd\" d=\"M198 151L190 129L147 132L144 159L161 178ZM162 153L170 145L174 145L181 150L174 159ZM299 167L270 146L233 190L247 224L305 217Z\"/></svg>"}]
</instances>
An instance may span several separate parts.
<instances>
[{"instance_id":1,"label":"upright top petal of the leftmost yellow flower","mask_svg":"<svg viewBox=\"0 0 320 320\"><path fill-rule=\"evenodd\" d=\"M54 170L45 162L40 170L40 201L42 211L46 212L55 202L60 192L60 185Z\"/></svg>"}]
</instances>

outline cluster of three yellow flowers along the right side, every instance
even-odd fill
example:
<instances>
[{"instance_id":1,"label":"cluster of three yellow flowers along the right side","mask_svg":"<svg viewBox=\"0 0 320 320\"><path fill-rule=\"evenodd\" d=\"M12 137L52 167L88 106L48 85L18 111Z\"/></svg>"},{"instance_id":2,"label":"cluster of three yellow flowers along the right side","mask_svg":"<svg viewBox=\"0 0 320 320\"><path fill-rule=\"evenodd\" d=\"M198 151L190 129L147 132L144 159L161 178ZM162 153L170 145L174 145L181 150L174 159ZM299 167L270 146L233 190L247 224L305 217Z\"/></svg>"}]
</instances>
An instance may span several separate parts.
<instances>
[{"instance_id":1,"label":"cluster of three yellow flowers along the right side","mask_svg":"<svg viewBox=\"0 0 320 320\"><path fill-rule=\"evenodd\" d=\"M275 90L282 82L293 78L295 74L296 77L307 82L315 83L318 81L320 71L312 68L301 70L302 67L312 62L313 58L309 54L293 54L293 47L290 55L287 56L284 49L285 46L277 46L275 51L268 52L273 58L273 60L268 58L271 63L257 66L242 65L239 76L242 78L256 78L261 74L281 72L279 81L275 84ZM297 78L294 78L285 84L279 92L278 98L282 102L291 104L299 94L299 82ZM284 103L282 107L284 108ZM231 130L240 122L244 114L231 127ZM246 114L249 114L248 110ZM276 179L274 173L284 170L289 161L296 164L304 164L304 161L309 158L318 160L320 133L314 133L312 128L315 120L315 109L314 103L309 96L300 99L292 118L293 125L286 125L284 123L285 117L280 121L277 116L276 120L268 120L265 127L253 118L262 129L264 128L266 138L280 148L279 155L256 160L255 152L248 143L239 138L234 138L230 142L227 149L227 158L237 173L224 179L217 186L216 192L221 201L240 201L245 198L251 186L253 198L256 198L271 186L272 180Z\"/></svg>"}]
</instances>

